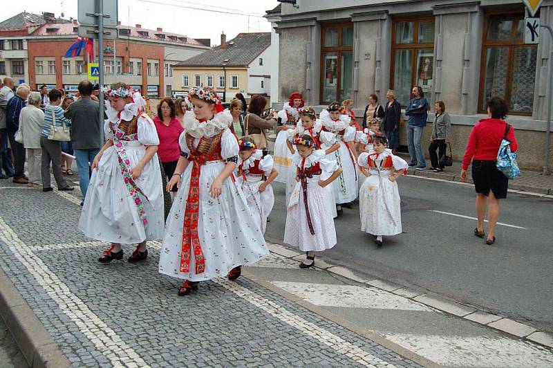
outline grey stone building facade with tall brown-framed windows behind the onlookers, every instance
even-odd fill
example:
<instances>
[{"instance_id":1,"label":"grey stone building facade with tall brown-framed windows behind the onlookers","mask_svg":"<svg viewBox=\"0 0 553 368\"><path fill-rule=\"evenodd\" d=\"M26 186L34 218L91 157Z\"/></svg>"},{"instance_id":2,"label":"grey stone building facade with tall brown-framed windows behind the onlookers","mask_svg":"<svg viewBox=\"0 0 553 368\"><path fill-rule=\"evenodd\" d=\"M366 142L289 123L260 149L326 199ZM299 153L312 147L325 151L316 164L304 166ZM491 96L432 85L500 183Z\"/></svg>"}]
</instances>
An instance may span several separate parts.
<instances>
[{"instance_id":1,"label":"grey stone building facade with tall brown-framed windows behind the onlookers","mask_svg":"<svg viewBox=\"0 0 553 368\"><path fill-rule=\"evenodd\" d=\"M308 104L353 98L362 109L369 94L382 102L393 89L405 106L420 85L431 110L445 102L455 125L453 155L460 158L487 98L503 95L521 166L541 169L553 60L547 33L538 45L524 44L525 15L520 0L283 3L276 22L279 100L299 90ZM553 1L543 1L536 17L553 26Z\"/></svg>"}]
</instances>

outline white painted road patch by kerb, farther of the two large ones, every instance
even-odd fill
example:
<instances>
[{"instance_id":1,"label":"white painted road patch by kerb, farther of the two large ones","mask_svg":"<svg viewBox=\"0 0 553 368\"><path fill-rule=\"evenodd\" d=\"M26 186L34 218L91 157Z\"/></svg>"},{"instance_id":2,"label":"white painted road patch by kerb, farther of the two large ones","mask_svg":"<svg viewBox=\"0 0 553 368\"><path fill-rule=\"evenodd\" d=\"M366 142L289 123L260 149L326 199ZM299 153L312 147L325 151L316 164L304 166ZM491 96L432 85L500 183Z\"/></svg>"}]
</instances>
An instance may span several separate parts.
<instances>
[{"instance_id":1,"label":"white painted road patch by kerb, farther of the two large ones","mask_svg":"<svg viewBox=\"0 0 553 368\"><path fill-rule=\"evenodd\" d=\"M271 284L317 306L438 312L422 303L371 286L281 281L272 281Z\"/></svg>"}]
</instances>

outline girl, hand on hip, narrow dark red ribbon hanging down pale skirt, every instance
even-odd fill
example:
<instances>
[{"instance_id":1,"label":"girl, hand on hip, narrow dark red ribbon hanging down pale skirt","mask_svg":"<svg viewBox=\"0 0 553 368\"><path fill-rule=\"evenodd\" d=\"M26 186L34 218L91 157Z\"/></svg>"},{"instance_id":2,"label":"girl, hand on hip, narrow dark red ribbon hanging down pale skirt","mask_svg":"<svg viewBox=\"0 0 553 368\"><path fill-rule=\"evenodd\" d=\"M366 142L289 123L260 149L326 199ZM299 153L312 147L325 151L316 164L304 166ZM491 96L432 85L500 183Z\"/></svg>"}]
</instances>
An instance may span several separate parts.
<instances>
[{"instance_id":1,"label":"girl, hand on hip, narrow dark red ribbon hanging down pale skirt","mask_svg":"<svg viewBox=\"0 0 553 368\"><path fill-rule=\"evenodd\" d=\"M297 186L294 189L284 228L284 242L306 252L300 268L315 265L315 251L336 245L336 229L332 219L334 203L325 187L332 183L341 169L336 161L327 160L323 149L315 149L311 136L303 134L294 140L297 152L292 162L297 167ZM323 173L330 174L323 180Z\"/></svg>"}]
</instances>

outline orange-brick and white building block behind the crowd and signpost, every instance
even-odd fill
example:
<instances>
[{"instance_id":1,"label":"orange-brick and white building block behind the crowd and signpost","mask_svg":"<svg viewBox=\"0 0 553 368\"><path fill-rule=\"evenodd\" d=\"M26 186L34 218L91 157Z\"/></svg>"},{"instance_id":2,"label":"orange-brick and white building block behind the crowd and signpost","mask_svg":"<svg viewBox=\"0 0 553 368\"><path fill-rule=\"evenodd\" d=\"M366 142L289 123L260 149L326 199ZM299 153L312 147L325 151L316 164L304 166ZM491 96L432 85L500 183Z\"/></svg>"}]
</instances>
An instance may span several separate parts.
<instances>
[{"instance_id":1,"label":"orange-brick and white building block behind the crowd and signpost","mask_svg":"<svg viewBox=\"0 0 553 368\"><path fill-rule=\"evenodd\" d=\"M32 16L32 17L31 17ZM13 21L13 19L22 19ZM32 19L32 23L29 22ZM20 29L6 29L6 28ZM199 42L185 35L167 33L162 28L147 30L140 26L117 26L118 37L106 40L104 81L122 81L144 91L150 97L171 95L173 65L209 50L209 40ZM46 84L76 92L77 84L87 77L88 56L64 57L78 37L76 20L66 21L21 13L0 23L0 76L10 75L16 83L26 82L32 88ZM17 49L12 50L15 45ZM95 55L97 55L95 42ZM17 54L17 55L16 55ZM2 62L5 67L1 70Z\"/></svg>"}]
</instances>

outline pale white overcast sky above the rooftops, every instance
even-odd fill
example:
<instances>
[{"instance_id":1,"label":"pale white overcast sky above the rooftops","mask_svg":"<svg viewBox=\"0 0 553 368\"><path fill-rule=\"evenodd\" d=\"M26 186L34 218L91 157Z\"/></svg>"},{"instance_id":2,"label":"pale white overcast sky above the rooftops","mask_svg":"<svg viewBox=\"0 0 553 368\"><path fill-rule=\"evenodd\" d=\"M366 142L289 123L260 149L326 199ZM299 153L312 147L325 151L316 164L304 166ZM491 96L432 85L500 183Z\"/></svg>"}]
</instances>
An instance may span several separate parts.
<instances>
[{"instance_id":1,"label":"pale white overcast sky above the rooftops","mask_svg":"<svg viewBox=\"0 0 553 368\"><path fill-rule=\"evenodd\" d=\"M104 3L107 1L113 0L104 0ZM162 27L167 32L193 38L210 38L215 45L220 44L221 31L225 32L227 40L241 32L270 32L270 23L263 15L265 10L278 4L277 0L119 0L119 20L125 25L141 24L143 28L154 30ZM24 10L35 14L53 12L56 17L64 12L66 19L77 18L77 0L2 0L0 18L8 19Z\"/></svg>"}]
</instances>

